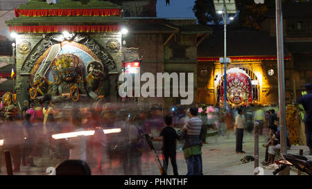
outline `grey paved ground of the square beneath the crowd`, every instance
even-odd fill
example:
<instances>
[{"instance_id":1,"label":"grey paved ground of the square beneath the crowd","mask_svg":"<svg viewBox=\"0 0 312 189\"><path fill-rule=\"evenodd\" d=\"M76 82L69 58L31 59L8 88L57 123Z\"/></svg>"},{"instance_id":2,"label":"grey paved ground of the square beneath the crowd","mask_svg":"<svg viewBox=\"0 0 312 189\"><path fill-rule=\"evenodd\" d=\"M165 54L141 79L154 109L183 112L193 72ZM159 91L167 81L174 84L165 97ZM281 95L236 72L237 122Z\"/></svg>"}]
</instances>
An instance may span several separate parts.
<instances>
[{"instance_id":1,"label":"grey paved ground of the square beneath the crowd","mask_svg":"<svg viewBox=\"0 0 312 189\"><path fill-rule=\"evenodd\" d=\"M260 136L259 138L260 162L263 161L265 156L265 148L261 145L264 143L266 138L266 136ZM254 161L243 164L241 164L240 161L246 155L254 156L254 137L252 134L245 133L243 139L243 150L246 152L246 154L235 153L234 134L229 134L229 136L209 136L207 141L208 144L202 147L203 173L205 175L254 174ZM155 146L159 147L159 144L155 143ZM182 147L182 144L179 143L178 147ZM306 146L293 146L290 150L288 150L288 153L299 154L300 149L304 150L304 156L312 160L312 156L307 155L309 149ZM62 162L62 159L50 159L49 156L36 157L35 163L37 164L37 167L29 168L28 166L21 166L21 172L15 174L49 174L46 173L46 168L54 167L60 162ZM105 166L103 166L101 172L94 169L94 163L90 163L89 165L92 168L92 174L123 174L121 163L119 163L119 161L110 161L107 157L105 157L104 162ZM187 173L187 165L185 163L182 150L177 150L177 167L179 174L184 175ZM2 172L0 174L6 175L6 168L2 167L1 170ZM272 171L273 170L264 170L263 174L272 175ZM159 175L159 170L151 152L144 154L142 158L142 174ZM168 174L173 174L170 163L168 166ZM291 171L291 174L297 174L297 172Z\"/></svg>"}]
</instances>

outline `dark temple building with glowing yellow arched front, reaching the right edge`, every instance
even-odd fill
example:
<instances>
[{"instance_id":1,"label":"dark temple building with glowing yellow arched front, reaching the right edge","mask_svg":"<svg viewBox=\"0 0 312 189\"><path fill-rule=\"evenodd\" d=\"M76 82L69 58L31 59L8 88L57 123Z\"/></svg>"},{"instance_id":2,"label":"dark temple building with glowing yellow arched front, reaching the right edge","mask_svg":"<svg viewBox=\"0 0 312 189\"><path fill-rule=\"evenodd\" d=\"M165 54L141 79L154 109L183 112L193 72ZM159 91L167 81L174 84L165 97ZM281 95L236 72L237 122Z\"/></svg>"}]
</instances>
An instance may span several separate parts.
<instances>
[{"instance_id":1,"label":"dark temple building with glowing yellow arched front, reaching the right edge","mask_svg":"<svg viewBox=\"0 0 312 189\"><path fill-rule=\"evenodd\" d=\"M312 82L312 3L284 3L284 71L286 103L294 102L304 84ZM223 26L211 26L213 34L198 46L198 101L216 105L223 100L224 66L219 57L223 57ZM227 56L231 62L228 73L238 73L238 82L245 79L248 89L230 91L228 78L227 97L232 105L241 104L278 104L277 82L277 45L275 27L275 9L266 13L260 30L229 28L227 30ZM230 74L229 74L230 75ZM228 76L229 76L228 75ZM234 92L234 93L233 93ZM243 98L245 96L245 102Z\"/></svg>"}]
</instances>

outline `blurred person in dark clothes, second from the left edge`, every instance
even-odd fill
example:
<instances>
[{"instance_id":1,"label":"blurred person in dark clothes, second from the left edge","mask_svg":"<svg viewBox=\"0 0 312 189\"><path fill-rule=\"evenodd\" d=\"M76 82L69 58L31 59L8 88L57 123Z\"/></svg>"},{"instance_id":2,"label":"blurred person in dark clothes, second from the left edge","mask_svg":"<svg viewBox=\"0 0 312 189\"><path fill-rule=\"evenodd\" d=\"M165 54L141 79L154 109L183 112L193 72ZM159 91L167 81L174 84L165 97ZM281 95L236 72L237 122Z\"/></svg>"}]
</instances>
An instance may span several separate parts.
<instances>
[{"instance_id":1,"label":"blurred person in dark clothes, second from the left edge","mask_svg":"<svg viewBox=\"0 0 312 189\"><path fill-rule=\"evenodd\" d=\"M35 132L35 127L31 123L31 114L25 114L25 118L21 126L26 131L26 136L24 138L24 146L22 147L21 161L23 165L29 165L35 167L33 160L33 152L37 141L37 135Z\"/></svg>"}]
</instances>

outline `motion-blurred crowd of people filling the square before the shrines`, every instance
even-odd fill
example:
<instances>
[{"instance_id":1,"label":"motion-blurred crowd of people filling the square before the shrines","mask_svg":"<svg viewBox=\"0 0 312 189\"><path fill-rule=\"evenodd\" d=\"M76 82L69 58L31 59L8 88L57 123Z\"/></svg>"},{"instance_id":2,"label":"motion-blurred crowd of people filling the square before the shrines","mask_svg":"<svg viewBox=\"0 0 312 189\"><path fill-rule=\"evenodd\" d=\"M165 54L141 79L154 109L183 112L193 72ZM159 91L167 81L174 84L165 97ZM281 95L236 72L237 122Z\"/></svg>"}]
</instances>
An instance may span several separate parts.
<instances>
[{"instance_id":1,"label":"motion-blurred crowd of people filling the square before the shrines","mask_svg":"<svg viewBox=\"0 0 312 189\"><path fill-rule=\"evenodd\" d=\"M277 112L277 114L275 113ZM92 104L55 104L24 101L20 114L1 114L0 171L3 150L10 150L14 172L20 166L35 167L35 156L48 154L51 159L79 159L98 171L103 171L103 157L118 159L123 174L141 174L141 159L150 153L145 134L153 141L162 141L164 170L170 159L173 174L178 174L177 141L183 143L187 174L202 174L202 145L208 144L208 132L218 136L236 135L236 153L242 154L243 133L250 134L254 123L259 123L259 134L268 134L266 160L269 165L279 145L278 107L214 107L193 104L164 109L151 105L141 109L137 105L116 105L105 102ZM105 134L103 129L121 128L121 132ZM53 134L94 131L92 136L53 138ZM209 137L208 137L209 138ZM112 161L108 161L111 164Z\"/></svg>"}]
</instances>

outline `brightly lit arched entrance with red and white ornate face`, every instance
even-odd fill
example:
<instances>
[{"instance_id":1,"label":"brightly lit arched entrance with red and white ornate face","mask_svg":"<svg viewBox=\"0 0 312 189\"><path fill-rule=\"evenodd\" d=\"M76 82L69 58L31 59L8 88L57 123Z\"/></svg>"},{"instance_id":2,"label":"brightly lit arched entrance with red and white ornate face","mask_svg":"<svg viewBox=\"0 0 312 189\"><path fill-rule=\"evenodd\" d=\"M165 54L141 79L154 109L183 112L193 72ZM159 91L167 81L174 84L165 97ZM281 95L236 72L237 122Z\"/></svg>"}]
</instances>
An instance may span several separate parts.
<instances>
[{"instance_id":1,"label":"brightly lit arched entrance with red and white ornate face","mask_svg":"<svg viewBox=\"0 0 312 189\"><path fill-rule=\"evenodd\" d=\"M224 104L224 78L217 82L217 103ZM227 103L233 107L259 102L259 80L249 69L234 67L227 70Z\"/></svg>"}]
</instances>

